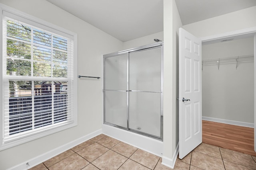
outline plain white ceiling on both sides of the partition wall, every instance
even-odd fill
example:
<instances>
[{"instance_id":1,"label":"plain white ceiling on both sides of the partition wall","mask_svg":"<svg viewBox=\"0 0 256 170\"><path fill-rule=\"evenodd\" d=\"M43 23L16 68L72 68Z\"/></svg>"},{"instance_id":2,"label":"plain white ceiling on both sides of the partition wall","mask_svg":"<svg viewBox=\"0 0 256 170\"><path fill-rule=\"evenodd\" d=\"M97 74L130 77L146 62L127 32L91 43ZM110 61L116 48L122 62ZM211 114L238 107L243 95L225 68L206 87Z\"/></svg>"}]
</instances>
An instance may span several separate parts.
<instances>
[{"instance_id":1,"label":"plain white ceiling on both sides of the partition wall","mask_svg":"<svg viewBox=\"0 0 256 170\"><path fill-rule=\"evenodd\" d=\"M47 1L123 42L164 30L163 0ZM186 25L256 6L256 0L176 0L176 4Z\"/></svg>"}]
</instances>

